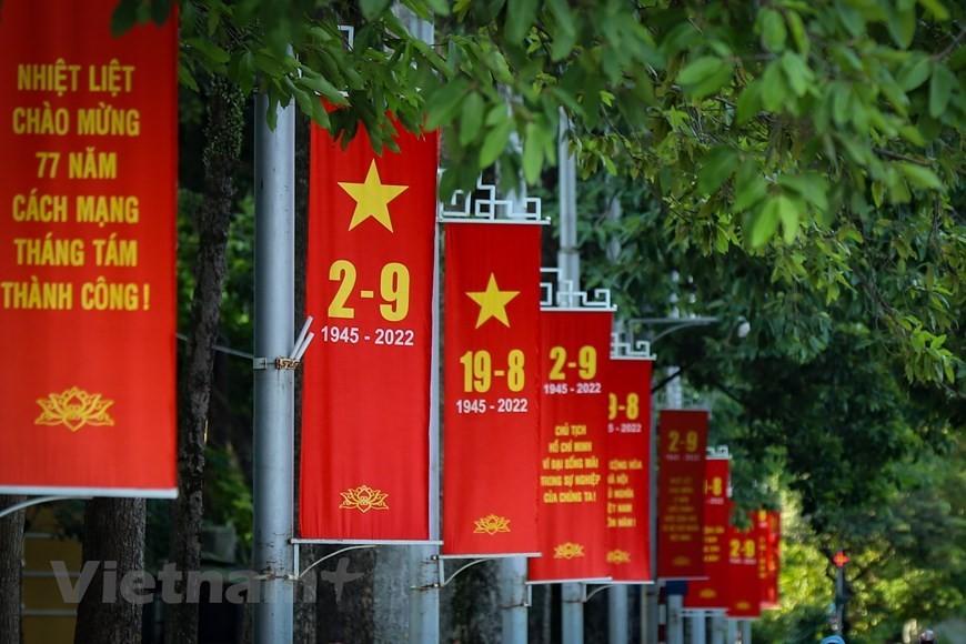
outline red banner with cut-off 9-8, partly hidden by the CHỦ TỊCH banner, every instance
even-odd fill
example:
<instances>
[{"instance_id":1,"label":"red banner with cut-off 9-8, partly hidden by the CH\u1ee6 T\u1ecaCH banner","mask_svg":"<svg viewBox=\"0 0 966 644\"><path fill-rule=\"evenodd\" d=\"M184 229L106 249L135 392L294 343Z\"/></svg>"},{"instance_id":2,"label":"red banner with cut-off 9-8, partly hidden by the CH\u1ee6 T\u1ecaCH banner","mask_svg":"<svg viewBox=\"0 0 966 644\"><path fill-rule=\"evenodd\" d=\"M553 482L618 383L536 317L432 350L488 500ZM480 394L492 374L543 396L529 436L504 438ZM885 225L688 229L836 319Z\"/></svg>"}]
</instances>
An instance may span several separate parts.
<instances>
[{"instance_id":1,"label":"red banner with cut-off 9-8, partly hidden by the CH\u1ee6 T\u1ecaCH banner","mask_svg":"<svg viewBox=\"0 0 966 644\"><path fill-rule=\"evenodd\" d=\"M615 356L607 391L607 563L621 582L653 581L651 360Z\"/></svg>"}]
</instances>

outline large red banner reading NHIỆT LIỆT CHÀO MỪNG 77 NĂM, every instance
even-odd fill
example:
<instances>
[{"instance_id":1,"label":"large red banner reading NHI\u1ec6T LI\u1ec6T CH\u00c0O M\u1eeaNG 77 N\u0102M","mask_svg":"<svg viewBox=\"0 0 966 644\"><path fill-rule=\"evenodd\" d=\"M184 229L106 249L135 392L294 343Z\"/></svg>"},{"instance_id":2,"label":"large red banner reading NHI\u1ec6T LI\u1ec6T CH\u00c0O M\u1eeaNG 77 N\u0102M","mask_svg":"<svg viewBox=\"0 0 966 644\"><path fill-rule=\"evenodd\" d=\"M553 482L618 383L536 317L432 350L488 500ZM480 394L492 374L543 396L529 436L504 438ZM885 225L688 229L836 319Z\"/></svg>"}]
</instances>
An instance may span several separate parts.
<instances>
[{"instance_id":1,"label":"large red banner reading NHI\u1ec6T LI\u1ec6T CH\u00c0O M\u1eeaNG 77 N\u0102M","mask_svg":"<svg viewBox=\"0 0 966 644\"><path fill-rule=\"evenodd\" d=\"M0 8L0 491L174 496L178 18Z\"/></svg>"}]
</instances>

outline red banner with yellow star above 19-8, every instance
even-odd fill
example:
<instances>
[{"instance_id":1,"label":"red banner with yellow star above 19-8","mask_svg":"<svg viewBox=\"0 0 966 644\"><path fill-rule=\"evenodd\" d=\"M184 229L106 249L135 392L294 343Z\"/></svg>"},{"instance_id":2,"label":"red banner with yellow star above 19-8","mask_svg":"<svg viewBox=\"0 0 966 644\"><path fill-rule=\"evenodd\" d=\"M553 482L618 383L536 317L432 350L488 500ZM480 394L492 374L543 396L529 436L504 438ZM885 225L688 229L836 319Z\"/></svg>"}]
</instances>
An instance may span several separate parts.
<instances>
[{"instance_id":1,"label":"red banner with yellow star above 19-8","mask_svg":"<svg viewBox=\"0 0 966 644\"><path fill-rule=\"evenodd\" d=\"M540 229L445 225L443 554L539 547Z\"/></svg>"}]
</instances>

